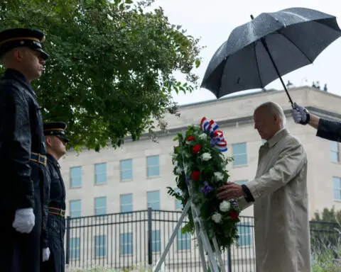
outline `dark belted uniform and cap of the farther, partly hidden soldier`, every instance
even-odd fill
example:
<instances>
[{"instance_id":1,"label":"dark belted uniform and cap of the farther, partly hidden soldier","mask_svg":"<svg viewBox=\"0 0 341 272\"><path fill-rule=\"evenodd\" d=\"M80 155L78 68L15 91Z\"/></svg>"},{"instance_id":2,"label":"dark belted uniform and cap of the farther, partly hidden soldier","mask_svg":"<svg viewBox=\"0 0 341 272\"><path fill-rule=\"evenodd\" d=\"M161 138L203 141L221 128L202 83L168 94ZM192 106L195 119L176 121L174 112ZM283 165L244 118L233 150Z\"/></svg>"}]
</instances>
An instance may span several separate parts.
<instances>
[{"instance_id":1,"label":"dark belted uniform and cap of the farther, partly hidden soldier","mask_svg":"<svg viewBox=\"0 0 341 272\"><path fill-rule=\"evenodd\" d=\"M44 134L60 137L63 142L69 142L65 137L66 124L63 122L45 123ZM65 271L65 186L63 177L60 174L60 165L57 160L47 154L48 164L46 165L50 177L50 201L48 205L48 232L43 233L43 241L47 244L43 248L50 249L50 258L44 261L41 266L42 272L64 272ZM47 239L46 239L47 237Z\"/></svg>"}]
</instances>

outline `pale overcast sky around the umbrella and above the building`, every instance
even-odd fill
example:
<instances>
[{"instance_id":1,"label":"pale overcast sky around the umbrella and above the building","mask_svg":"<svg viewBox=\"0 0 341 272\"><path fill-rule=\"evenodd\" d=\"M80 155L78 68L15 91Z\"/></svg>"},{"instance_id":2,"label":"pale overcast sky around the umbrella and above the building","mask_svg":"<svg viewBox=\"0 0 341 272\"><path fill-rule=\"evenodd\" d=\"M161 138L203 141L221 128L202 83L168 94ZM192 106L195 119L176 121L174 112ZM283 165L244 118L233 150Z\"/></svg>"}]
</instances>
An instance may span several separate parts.
<instances>
[{"instance_id":1,"label":"pale overcast sky around the umbrella and above the building","mask_svg":"<svg viewBox=\"0 0 341 272\"><path fill-rule=\"evenodd\" d=\"M207 64L222 42L229 38L231 31L262 12L275 12L283 8L304 7L323 11L337 17L341 27L340 0L156 0L154 6L161 6L170 23L181 25L187 29L188 35L200 38L202 64L196 73L200 77L205 74ZM311 85L320 81L320 86L328 84L328 91L341 95L341 38L327 47L315 60L314 64L298 69L283 77L284 82L290 80L295 86ZM276 80L266 89L283 89L281 82ZM255 91L255 90L253 90ZM237 94L243 94L239 92ZM215 99L206 89L197 89L192 94L174 94L174 100L180 105L197 101ZM293 97L293 100L295 98Z\"/></svg>"}]
</instances>

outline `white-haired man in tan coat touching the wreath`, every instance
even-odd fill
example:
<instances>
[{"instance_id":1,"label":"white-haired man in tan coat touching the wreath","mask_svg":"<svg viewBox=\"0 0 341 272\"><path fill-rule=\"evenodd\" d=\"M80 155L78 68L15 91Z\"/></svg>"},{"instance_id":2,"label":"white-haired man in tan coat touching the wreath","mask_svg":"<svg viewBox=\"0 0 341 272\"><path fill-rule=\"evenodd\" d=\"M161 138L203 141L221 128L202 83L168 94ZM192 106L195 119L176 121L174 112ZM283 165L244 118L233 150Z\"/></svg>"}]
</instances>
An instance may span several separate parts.
<instances>
[{"instance_id":1,"label":"white-haired man in tan coat touching the wreath","mask_svg":"<svg viewBox=\"0 0 341 272\"><path fill-rule=\"evenodd\" d=\"M259 149L256 177L244 186L227 183L218 198L254 204L257 272L310 272L307 157L302 143L284 128L278 104L254 111L254 128L267 142Z\"/></svg>"}]
</instances>

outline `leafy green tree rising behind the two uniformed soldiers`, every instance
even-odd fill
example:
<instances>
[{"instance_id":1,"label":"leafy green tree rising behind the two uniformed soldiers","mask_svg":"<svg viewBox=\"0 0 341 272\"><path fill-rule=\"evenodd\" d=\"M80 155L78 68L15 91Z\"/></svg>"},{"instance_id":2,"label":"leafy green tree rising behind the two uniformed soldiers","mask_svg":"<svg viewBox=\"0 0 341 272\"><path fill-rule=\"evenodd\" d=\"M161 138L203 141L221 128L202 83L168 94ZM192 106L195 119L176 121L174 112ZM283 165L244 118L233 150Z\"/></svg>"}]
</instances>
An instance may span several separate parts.
<instances>
[{"instance_id":1,"label":"leafy green tree rising behind the two uniformed soldiers","mask_svg":"<svg viewBox=\"0 0 341 272\"><path fill-rule=\"evenodd\" d=\"M197 86L198 39L171 25L162 8L147 12L152 2L1 1L0 30L45 31L50 59L33 88L44 120L65 120L75 149L117 147L164 128L163 116L178 114L171 91Z\"/></svg>"}]
</instances>

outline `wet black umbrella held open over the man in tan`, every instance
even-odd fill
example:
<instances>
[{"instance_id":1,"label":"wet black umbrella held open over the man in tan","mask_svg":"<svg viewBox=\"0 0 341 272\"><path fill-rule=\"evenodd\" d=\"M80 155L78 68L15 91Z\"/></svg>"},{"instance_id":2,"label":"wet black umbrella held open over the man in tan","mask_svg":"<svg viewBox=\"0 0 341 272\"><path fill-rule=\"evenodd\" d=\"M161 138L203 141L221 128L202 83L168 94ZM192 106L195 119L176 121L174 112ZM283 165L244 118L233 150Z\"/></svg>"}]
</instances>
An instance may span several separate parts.
<instances>
[{"instance_id":1,"label":"wet black umbrella held open over the man in tan","mask_svg":"<svg viewBox=\"0 0 341 272\"><path fill-rule=\"evenodd\" d=\"M205 72L202 88L217 98L264 88L279 77L313 63L341 35L335 16L308 8L261 13L234 28Z\"/></svg>"}]
</instances>

